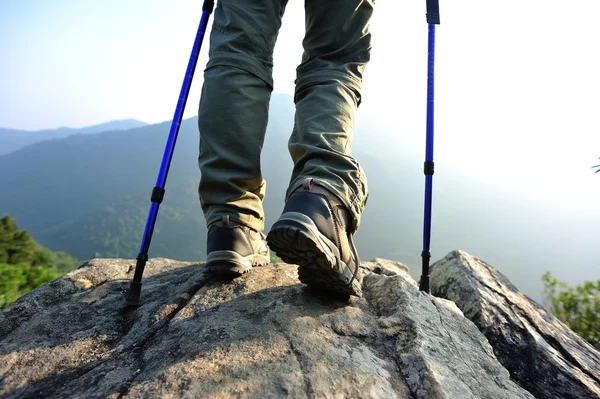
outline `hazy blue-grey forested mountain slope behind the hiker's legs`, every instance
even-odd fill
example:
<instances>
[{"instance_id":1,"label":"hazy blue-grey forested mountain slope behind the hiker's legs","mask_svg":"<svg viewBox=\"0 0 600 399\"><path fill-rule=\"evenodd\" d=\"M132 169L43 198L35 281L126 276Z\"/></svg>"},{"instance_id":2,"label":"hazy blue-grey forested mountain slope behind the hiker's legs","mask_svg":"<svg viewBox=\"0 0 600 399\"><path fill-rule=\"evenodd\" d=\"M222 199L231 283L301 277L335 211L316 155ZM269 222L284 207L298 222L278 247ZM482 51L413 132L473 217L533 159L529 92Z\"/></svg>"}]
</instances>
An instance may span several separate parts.
<instances>
[{"instance_id":1,"label":"hazy blue-grey forested mountain slope behind the hiker's legs","mask_svg":"<svg viewBox=\"0 0 600 399\"><path fill-rule=\"evenodd\" d=\"M291 96L273 95L261 159L267 180L266 228L279 216L292 162ZM124 131L78 134L0 156L0 215L9 214L53 250L80 259L134 258L170 122ZM419 132L419 134L423 134ZM423 137L423 143L424 143ZM206 228L197 195L197 119L183 121L149 255L184 261L205 257ZM424 145L423 145L424 147ZM359 111L352 154L365 169L369 199L356 243L363 259L402 260L420 275L423 159L371 110ZM510 269L502 272L539 299L545 271L571 267L575 281L597 279L600 217L557 208L525 193L481 182L436 162L432 254L455 248ZM572 281L572 280L571 280Z\"/></svg>"}]
</instances>

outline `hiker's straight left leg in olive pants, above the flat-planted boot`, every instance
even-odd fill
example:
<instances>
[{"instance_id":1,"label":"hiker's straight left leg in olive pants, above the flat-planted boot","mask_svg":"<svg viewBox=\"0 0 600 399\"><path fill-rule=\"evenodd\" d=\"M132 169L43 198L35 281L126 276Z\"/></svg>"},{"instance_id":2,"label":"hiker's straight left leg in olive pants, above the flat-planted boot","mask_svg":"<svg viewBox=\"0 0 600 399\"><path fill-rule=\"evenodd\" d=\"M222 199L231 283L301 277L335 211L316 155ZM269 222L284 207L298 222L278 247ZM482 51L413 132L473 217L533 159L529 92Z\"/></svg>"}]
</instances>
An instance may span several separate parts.
<instances>
[{"instance_id":1,"label":"hiker's straight left leg in olive pants, above the flat-planted boot","mask_svg":"<svg viewBox=\"0 0 600 399\"><path fill-rule=\"evenodd\" d=\"M207 225L229 215L264 227L260 152L273 90L273 48L287 0L219 0L198 110L198 192Z\"/></svg>"}]
</instances>

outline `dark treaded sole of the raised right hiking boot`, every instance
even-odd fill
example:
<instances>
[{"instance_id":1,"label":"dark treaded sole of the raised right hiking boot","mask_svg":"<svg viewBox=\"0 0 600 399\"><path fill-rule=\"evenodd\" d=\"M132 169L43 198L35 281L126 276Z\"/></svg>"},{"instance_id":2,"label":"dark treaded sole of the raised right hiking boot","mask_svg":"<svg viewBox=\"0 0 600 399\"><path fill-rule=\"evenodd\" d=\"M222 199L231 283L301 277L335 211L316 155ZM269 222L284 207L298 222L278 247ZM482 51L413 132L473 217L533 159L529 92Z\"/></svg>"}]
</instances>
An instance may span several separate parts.
<instances>
[{"instance_id":1,"label":"dark treaded sole of the raised right hiking boot","mask_svg":"<svg viewBox=\"0 0 600 399\"><path fill-rule=\"evenodd\" d=\"M298 265L304 284L330 292L362 296L354 273L340 259L337 246L315 223L299 212L286 212L267 235L271 250L286 263Z\"/></svg>"}]
</instances>

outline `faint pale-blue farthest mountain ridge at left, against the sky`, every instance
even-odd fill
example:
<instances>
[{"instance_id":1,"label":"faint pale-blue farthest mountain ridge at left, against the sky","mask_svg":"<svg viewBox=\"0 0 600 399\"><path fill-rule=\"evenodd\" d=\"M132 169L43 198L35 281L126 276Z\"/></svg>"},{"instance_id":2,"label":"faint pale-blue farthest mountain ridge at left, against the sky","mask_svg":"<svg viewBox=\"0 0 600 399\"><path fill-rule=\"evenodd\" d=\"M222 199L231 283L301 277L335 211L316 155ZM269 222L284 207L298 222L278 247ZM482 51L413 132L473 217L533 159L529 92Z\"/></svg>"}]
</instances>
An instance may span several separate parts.
<instances>
[{"instance_id":1,"label":"faint pale-blue farthest mountain ridge at left, against the sky","mask_svg":"<svg viewBox=\"0 0 600 399\"><path fill-rule=\"evenodd\" d=\"M148 125L136 119L122 119L83 128L60 127L58 129L20 130L0 128L0 155L9 154L28 145L74 134L94 134L113 130L128 130Z\"/></svg>"}]
</instances>

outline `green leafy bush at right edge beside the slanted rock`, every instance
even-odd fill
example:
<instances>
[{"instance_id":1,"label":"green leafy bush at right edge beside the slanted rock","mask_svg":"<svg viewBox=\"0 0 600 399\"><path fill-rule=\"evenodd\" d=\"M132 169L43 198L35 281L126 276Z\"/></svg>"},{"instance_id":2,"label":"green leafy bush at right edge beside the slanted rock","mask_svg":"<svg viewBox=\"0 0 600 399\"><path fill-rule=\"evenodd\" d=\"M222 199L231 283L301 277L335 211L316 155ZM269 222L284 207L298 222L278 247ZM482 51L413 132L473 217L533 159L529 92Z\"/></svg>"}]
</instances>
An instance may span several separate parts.
<instances>
[{"instance_id":1,"label":"green leafy bush at right edge beside the slanted rock","mask_svg":"<svg viewBox=\"0 0 600 399\"><path fill-rule=\"evenodd\" d=\"M550 311L583 339L600 349L600 280L571 287L547 272L542 277Z\"/></svg>"}]
</instances>

